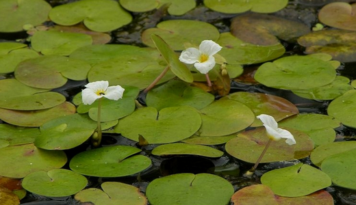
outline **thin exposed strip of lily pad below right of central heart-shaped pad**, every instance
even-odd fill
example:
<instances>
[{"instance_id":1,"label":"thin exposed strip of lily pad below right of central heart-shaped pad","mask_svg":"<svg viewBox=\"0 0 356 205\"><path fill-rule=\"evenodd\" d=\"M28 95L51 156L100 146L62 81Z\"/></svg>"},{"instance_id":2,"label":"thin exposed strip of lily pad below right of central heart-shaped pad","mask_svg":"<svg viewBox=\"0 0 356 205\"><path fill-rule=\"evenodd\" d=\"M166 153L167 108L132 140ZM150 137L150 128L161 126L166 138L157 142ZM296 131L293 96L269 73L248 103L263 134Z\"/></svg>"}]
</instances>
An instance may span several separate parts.
<instances>
[{"instance_id":1,"label":"thin exposed strip of lily pad below right of central heart-shaped pad","mask_svg":"<svg viewBox=\"0 0 356 205\"><path fill-rule=\"evenodd\" d=\"M193 135L188 139L183 139L182 141L185 143L196 143L196 144L203 144L203 145L217 145L222 143L227 143L230 139L236 137L236 134L227 135L227 136L214 136L214 137L200 137Z\"/></svg>"}]
</instances>

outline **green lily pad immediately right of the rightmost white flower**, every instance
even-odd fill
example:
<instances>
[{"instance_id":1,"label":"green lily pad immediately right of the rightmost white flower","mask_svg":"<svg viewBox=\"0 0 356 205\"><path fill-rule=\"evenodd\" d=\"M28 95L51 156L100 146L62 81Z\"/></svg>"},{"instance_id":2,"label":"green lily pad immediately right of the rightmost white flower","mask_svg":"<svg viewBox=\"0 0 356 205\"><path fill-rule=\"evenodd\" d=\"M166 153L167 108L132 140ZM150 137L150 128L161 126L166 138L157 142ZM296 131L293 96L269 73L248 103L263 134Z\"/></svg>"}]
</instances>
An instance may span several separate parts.
<instances>
[{"instance_id":1,"label":"green lily pad immediately right of the rightmost white flower","mask_svg":"<svg viewBox=\"0 0 356 205\"><path fill-rule=\"evenodd\" d=\"M340 126L340 120L329 115L301 113L279 122L280 126L303 131L314 141L315 146L331 143L335 140L333 128Z\"/></svg>"}]
</instances>

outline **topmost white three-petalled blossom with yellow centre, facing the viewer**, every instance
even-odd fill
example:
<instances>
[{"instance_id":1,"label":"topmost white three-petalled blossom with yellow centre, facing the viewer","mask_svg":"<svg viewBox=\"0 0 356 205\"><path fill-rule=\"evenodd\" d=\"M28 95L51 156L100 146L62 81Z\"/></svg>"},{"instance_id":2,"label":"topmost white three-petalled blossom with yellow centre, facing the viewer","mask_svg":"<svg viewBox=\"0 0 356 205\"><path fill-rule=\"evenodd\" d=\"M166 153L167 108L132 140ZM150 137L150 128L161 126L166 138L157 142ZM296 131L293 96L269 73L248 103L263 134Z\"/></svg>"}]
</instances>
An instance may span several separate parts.
<instances>
[{"instance_id":1,"label":"topmost white three-petalled blossom with yellow centre, facing the viewer","mask_svg":"<svg viewBox=\"0 0 356 205\"><path fill-rule=\"evenodd\" d=\"M203 40L199 45L199 50L189 48L181 52L179 60L185 64L194 64L196 70L207 74L215 66L213 55L218 53L223 47L212 40Z\"/></svg>"}]
</instances>

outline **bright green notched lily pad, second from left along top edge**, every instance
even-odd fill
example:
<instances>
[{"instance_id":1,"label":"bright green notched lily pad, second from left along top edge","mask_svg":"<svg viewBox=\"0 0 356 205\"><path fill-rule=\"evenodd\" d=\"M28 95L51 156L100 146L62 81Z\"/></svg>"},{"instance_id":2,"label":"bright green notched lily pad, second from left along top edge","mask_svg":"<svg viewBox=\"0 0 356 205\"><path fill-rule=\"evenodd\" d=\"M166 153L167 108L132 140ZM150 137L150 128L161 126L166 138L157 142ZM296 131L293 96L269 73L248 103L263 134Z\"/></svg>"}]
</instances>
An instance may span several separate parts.
<instances>
[{"instance_id":1,"label":"bright green notched lily pad, second from left along top edge","mask_svg":"<svg viewBox=\"0 0 356 205\"><path fill-rule=\"evenodd\" d=\"M84 21L92 31L107 32L131 22L132 16L116 1L82 0L58 5L49 18L59 25L75 25Z\"/></svg>"}]
</instances>

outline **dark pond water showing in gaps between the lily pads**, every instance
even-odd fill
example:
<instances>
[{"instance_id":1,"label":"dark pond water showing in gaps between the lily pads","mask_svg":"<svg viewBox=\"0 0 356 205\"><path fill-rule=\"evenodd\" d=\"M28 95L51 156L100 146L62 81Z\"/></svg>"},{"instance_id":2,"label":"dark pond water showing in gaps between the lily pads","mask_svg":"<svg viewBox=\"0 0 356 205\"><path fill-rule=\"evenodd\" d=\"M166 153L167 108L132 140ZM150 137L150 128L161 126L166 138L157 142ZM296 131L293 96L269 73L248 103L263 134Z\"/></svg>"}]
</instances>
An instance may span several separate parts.
<instances>
[{"instance_id":1,"label":"dark pond water showing in gaps between the lily pads","mask_svg":"<svg viewBox=\"0 0 356 205\"><path fill-rule=\"evenodd\" d=\"M72 1L57 1L48 0L52 7L56 5L62 5L70 3ZM283 17L289 20L297 20L298 22L304 23L308 27L313 27L318 23L318 10L325 5L327 1L290 1L288 6L276 12L274 15ZM196 8L194 10L184 14L183 16L172 16L167 13L167 11L162 8L160 10L152 10L150 12L131 12L133 16L133 21L129 25L125 25L119 29L110 32L112 40L110 44L129 44L133 46L145 47L146 45L142 43L141 33L149 28L155 27L157 23L166 20L175 19L188 19L188 20L200 20L203 22L210 23L218 28L220 33L229 32L231 19L236 16L236 14L223 14L220 12L214 12L209 10L203 5L203 1L196 1ZM54 25L52 22L47 22L47 26ZM196 31L199 32L199 29ZM25 42L27 38L27 33L0 33L0 42L8 42L20 39L21 42ZM29 44L28 42L26 42ZM290 55L305 55L305 48L295 41L285 41L281 40L281 43L285 47L285 54L283 57ZM292 104L294 104L300 113L318 113L327 115L327 109L332 100L310 100L307 98L302 98L297 96L290 90L282 90L272 87L267 87L262 85L253 79L257 68L263 63L244 65L244 72L233 79L231 79L231 90L230 94L235 92L251 92L251 93L263 93L270 94L273 96L279 96L284 98ZM337 74L340 76L347 77L351 81L356 79L355 72L355 62L341 62L341 65L337 68ZM14 73L10 72L8 74L1 75L2 79L12 79L14 78ZM68 80L68 82L62 87L55 88L53 92L59 92L66 97L69 102L73 101L75 95L84 89L84 85L88 83L87 80L73 81ZM222 96L215 96L216 100L222 98ZM146 94L142 91L138 95L138 103L142 106L146 106ZM5 121L5 120L4 120ZM6 124L6 122L1 122ZM246 130L253 130L254 128L246 128ZM335 141L354 141L356 137L356 129L349 126L340 126L335 128L336 136ZM163 176L169 176L172 174L179 173L192 173L201 174L209 173L215 174L225 178L233 185L233 189L238 191L244 187L249 187L253 184L261 184L260 178L266 172L274 169L279 169L281 167L288 167L296 163L304 163L317 167L312 163L309 157L292 160L292 161L281 161L275 163L262 163L257 168L255 175L251 179L243 176L253 166L253 163L246 163L240 159L236 159L231 156L225 150L225 143L211 145L210 147L224 152L223 156L218 158L209 158L205 156L194 156L194 155L168 155L168 156L155 156L151 154L152 150L158 145L146 145L140 146L138 142L123 137L117 133L103 133L103 147L124 145L140 148L142 152L140 154L148 156L152 161L152 165L140 172L140 174L133 174L131 176L115 177L115 178L105 178L105 177L95 177L86 176L88 178L88 188L100 188L103 182L123 182L126 184L131 184L134 187L138 187L142 193L146 192L147 186L150 182L157 178L162 178ZM79 152L84 152L86 150L92 149L90 140L82 143L80 146L64 150L66 156L68 157L68 162L64 165L63 169L70 169L69 161ZM100 167L98 167L100 169ZM334 204L356 204L356 191L352 189L345 189L335 185L327 187L325 189L329 192L334 200ZM35 193L27 193L27 195L21 200L21 204L90 204L80 203L74 200L74 196L70 197L44 197L37 195ZM233 204L232 202L230 204Z\"/></svg>"}]
</instances>

